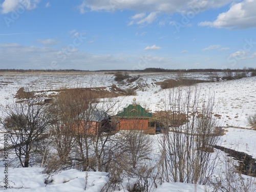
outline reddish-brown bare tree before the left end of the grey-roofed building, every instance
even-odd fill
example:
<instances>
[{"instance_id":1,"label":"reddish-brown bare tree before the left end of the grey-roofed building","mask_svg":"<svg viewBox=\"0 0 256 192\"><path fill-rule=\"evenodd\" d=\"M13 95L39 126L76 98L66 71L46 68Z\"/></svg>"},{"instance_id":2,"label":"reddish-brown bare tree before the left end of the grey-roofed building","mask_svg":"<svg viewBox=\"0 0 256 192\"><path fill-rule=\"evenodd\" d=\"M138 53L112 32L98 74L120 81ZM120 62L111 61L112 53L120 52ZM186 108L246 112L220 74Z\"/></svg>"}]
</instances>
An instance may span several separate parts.
<instances>
[{"instance_id":1,"label":"reddish-brown bare tree before the left end of the grey-roofed building","mask_svg":"<svg viewBox=\"0 0 256 192\"><path fill-rule=\"evenodd\" d=\"M84 119L88 106L96 101L94 98L91 92L82 89L70 89L58 96L54 113L57 121L53 130L53 146L58 156L53 161L58 164L75 168L81 165L82 170L90 169L88 149L91 143Z\"/></svg>"}]
</instances>

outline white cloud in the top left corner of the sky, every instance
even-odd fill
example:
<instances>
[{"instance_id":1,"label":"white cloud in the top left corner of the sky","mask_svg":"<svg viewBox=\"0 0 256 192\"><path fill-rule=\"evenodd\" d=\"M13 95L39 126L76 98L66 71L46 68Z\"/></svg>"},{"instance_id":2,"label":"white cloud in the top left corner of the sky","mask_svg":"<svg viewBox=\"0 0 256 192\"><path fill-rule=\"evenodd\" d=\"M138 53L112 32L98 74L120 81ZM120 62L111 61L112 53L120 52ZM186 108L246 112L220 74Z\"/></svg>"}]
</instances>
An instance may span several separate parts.
<instances>
[{"instance_id":1,"label":"white cloud in the top left corner of the sky","mask_svg":"<svg viewBox=\"0 0 256 192\"><path fill-rule=\"evenodd\" d=\"M39 0L5 0L1 5L1 13L7 14L17 9L35 9Z\"/></svg>"}]
</instances>

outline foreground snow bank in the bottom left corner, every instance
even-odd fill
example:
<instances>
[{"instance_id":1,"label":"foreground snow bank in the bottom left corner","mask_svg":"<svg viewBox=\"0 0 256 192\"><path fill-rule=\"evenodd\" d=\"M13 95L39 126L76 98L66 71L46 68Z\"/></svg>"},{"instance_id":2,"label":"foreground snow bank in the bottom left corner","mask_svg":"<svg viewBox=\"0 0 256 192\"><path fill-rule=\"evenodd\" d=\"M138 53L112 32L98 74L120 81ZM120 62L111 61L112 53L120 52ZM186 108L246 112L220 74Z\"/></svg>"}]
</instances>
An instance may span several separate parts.
<instances>
[{"instance_id":1,"label":"foreground snow bank in the bottom left corner","mask_svg":"<svg viewBox=\"0 0 256 192\"><path fill-rule=\"evenodd\" d=\"M28 168L11 168L8 169L9 187L5 191L100 191L101 188L108 182L107 173L103 172L79 172L76 169L63 170L48 180L51 183L45 184L47 179L46 174L42 174L44 168L28 167ZM0 168L0 172L4 173L4 168ZM3 179L0 181L0 186L3 186ZM0 190L4 188L0 187Z\"/></svg>"}]
</instances>

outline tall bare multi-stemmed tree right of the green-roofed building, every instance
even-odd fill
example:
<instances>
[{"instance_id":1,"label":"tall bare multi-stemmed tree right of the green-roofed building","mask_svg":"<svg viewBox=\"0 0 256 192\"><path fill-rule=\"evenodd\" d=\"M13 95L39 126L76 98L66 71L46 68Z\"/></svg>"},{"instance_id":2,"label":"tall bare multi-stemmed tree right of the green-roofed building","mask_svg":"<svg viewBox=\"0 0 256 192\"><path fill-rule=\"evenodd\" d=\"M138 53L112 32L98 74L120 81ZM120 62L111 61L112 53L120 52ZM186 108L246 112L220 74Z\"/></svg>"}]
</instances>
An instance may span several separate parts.
<instances>
[{"instance_id":1,"label":"tall bare multi-stemmed tree right of the green-roofed building","mask_svg":"<svg viewBox=\"0 0 256 192\"><path fill-rule=\"evenodd\" d=\"M164 117L170 132L160 137L164 181L207 183L216 165L211 155L218 139L214 112L214 95L201 96L197 87L170 90Z\"/></svg>"}]
</instances>

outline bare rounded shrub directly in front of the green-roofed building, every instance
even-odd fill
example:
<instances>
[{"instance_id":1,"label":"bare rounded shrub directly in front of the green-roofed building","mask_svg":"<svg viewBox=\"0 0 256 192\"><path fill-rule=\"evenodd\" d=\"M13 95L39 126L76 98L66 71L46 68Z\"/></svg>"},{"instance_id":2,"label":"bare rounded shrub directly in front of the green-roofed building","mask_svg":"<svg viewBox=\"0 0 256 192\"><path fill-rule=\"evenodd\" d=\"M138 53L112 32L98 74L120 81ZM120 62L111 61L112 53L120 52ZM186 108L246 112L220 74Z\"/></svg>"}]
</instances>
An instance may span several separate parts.
<instances>
[{"instance_id":1,"label":"bare rounded shrub directly in front of the green-roofed building","mask_svg":"<svg viewBox=\"0 0 256 192\"><path fill-rule=\"evenodd\" d=\"M137 125L138 126L138 125ZM143 130L119 131L113 135L109 173L110 186L118 189L124 179L129 191L149 191L155 166L150 165L152 139ZM119 189L120 190L120 189Z\"/></svg>"}]
</instances>

